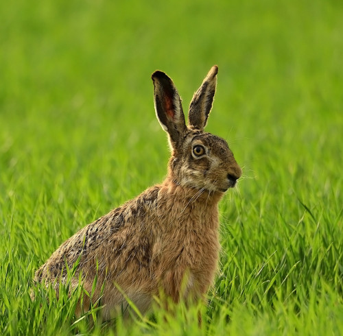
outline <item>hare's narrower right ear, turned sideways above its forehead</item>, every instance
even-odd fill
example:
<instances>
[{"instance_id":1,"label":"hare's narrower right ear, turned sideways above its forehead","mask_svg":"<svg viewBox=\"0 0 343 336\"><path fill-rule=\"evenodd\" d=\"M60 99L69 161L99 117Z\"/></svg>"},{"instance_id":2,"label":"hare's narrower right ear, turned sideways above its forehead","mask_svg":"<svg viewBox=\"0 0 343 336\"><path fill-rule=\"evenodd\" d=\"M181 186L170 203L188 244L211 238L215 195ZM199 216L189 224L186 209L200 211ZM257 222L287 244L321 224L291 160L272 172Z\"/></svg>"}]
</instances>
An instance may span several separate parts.
<instances>
[{"instance_id":1,"label":"hare's narrower right ear, turned sideways above its forehead","mask_svg":"<svg viewBox=\"0 0 343 336\"><path fill-rule=\"evenodd\" d=\"M198 91L194 93L188 113L190 127L204 130L212 108L215 86L217 85L217 73L218 67L213 65Z\"/></svg>"}]
</instances>

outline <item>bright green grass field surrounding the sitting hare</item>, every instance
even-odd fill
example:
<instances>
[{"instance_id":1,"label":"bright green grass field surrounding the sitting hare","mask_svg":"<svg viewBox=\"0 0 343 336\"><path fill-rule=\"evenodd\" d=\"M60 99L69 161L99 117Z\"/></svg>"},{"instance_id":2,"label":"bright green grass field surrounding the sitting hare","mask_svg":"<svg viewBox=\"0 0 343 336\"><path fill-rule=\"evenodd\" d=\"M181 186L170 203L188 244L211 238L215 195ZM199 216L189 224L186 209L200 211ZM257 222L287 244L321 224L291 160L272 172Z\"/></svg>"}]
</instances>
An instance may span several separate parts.
<instances>
[{"instance_id":1,"label":"bright green grass field surrounding the sitting hare","mask_svg":"<svg viewBox=\"0 0 343 336\"><path fill-rule=\"evenodd\" d=\"M343 335L342 34L334 0L3 1L1 335ZM213 64L206 130L245 178L220 204L201 328L182 306L91 327L73 316L77 293L31 302L60 243L163 180L151 73L187 110Z\"/></svg>"}]
</instances>

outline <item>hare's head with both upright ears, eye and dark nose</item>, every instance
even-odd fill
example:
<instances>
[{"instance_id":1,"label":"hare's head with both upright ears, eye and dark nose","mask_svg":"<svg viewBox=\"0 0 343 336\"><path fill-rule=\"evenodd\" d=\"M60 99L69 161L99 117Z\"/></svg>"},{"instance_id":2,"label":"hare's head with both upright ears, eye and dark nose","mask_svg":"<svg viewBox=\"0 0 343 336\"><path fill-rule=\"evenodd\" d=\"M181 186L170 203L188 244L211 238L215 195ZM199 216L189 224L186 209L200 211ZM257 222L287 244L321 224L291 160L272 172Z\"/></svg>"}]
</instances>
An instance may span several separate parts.
<instances>
[{"instance_id":1,"label":"hare's head with both upright ears, eye and dark nose","mask_svg":"<svg viewBox=\"0 0 343 336\"><path fill-rule=\"evenodd\" d=\"M169 178L183 187L223 193L235 187L241 168L224 139L204 132L212 108L217 72L215 65L194 93L188 126L173 81L162 71L155 71L152 80L156 116L169 134Z\"/></svg>"}]
</instances>

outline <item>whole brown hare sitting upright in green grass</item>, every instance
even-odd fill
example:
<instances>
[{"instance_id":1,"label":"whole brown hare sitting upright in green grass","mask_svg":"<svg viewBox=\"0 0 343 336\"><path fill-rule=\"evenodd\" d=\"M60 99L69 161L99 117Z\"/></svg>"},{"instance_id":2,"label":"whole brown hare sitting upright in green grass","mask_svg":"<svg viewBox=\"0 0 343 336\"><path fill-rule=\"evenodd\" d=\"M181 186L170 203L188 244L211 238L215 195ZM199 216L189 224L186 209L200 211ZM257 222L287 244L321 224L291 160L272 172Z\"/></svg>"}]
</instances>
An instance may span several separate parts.
<instances>
[{"instance_id":1,"label":"whole brown hare sitting upright in green grass","mask_svg":"<svg viewBox=\"0 0 343 336\"><path fill-rule=\"evenodd\" d=\"M97 276L92 300L102 295L104 319L126 309L126 298L141 313L154 296L175 303L204 298L219 258L218 202L241 176L226 141L204 132L217 71L213 66L193 95L188 126L172 80L162 71L152 74L156 117L171 147L167 177L62 243L36 271L36 283L54 283L58 291L65 264L78 261L71 284L80 277L91 292Z\"/></svg>"}]
</instances>

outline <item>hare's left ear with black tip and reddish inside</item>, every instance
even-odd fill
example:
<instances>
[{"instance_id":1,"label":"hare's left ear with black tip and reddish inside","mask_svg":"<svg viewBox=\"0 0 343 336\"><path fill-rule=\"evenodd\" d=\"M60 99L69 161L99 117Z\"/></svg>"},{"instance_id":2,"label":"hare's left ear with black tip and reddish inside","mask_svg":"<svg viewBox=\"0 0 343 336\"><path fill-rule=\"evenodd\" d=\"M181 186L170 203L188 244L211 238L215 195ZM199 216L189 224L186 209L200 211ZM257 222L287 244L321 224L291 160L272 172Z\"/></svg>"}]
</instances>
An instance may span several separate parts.
<instances>
[{"instance_id":1,"label":"hare's left ear with black tip and reddish inside","mask_svg":"<svg viewBox=\"0 0 343 336\"><path fill-rule=\"evenodd\" d=\"M171 145L176 149L187 130L181 99L173 81L162 71L152 74L156 117L163 130L169 133Z\"/></svg>"}]
</instances>

